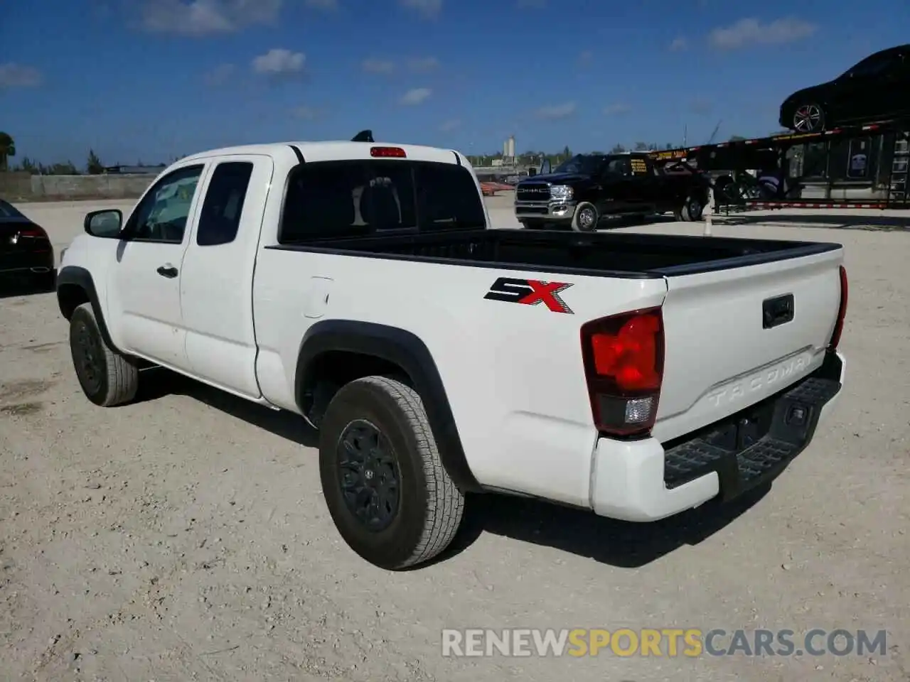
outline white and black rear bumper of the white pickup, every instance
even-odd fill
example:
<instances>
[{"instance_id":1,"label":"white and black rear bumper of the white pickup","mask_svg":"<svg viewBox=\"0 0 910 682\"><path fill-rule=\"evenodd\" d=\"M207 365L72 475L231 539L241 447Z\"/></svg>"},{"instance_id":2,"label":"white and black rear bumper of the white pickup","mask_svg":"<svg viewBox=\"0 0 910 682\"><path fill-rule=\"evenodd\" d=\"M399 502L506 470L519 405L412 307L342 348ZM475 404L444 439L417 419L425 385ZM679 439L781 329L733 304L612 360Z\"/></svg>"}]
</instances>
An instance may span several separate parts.
<instances>
[{"instance_id":1,"label":"white and black rear bumper of the white pickup","mask_svg":"<svg viewBox=\"0 0 910 682\"><path fill-rule=\"evenodd\" d=\"M844 356L829 353L812 375L763 404L666 446L654 438L599 438L591 508L603 517L656 521L761 486L812 441L840 396L845 370ZM743 418L753 423L737 426Z\"/></svg>"}]
</instances>

